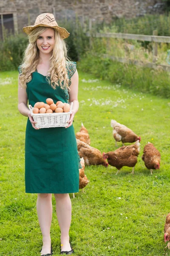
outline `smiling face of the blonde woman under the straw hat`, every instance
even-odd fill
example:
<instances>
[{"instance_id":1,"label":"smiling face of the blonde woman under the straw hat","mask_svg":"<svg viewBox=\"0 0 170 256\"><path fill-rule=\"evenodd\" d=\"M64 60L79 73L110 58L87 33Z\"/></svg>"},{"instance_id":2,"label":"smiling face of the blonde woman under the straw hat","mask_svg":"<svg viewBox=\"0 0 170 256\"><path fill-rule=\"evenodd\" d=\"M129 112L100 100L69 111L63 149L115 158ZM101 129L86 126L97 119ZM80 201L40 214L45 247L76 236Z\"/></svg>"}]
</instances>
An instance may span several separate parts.
<instances>
[{"instance_id":1,"label":"smiling face of the blonde woman under the straw hat","mask_svg":"<svg viewBox=\"0 0 170 256\"><path fill-rule=\"evenodd\" d=\"M40 53L49 54L54 47L54 29L47 29L38 35L37 47Z\"/></svg>"}]
</instances>

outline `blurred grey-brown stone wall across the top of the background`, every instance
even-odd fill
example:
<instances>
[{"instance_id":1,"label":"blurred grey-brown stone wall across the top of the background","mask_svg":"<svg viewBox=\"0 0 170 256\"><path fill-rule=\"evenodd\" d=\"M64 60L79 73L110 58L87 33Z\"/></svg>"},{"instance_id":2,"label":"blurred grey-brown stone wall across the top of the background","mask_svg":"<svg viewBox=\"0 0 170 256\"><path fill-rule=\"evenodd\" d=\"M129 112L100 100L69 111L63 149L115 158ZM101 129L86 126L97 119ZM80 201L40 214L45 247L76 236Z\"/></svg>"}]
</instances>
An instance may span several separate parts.
<instances>
[{"instance_id":1,"label":"blurred grey-brown stone wall across the top of the background","mask_svg":"<svg viewBox=\"0 0 170 256\"><path fill-rule=\"evenodd\" d=\"M136 17L145 14L162 13L163 0L3 0L0 1L0 14L14 14L15 31L23 26L33 25L43 12L54 13L59 23L62 19L79 17L82 22L111 22L113 17Z\"/></svg>"}]
</instances>

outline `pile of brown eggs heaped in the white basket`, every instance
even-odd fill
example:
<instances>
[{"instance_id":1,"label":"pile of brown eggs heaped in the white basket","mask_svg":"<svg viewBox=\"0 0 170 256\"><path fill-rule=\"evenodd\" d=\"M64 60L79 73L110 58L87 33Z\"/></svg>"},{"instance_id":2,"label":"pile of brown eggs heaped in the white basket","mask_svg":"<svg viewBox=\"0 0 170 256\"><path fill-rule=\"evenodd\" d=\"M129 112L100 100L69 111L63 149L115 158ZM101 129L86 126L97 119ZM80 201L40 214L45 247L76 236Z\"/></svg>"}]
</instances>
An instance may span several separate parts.
<instances>
[{"instance_id":1,"label":"pile of brown eggs heaped in the white basket","mask_svg":"<svg viewBox=\"0 0 170 256\"><path fill-rule=\"evenodd\" d=\"M45 113L62 113L62 112L69 112L70 105L68 103L63 103L58 101L56 104L54 103L53 99L46 99L46 103L44 102L37 102L34 105L33 113L34 114L45 114Z\"/></svg>"}]
</instances>

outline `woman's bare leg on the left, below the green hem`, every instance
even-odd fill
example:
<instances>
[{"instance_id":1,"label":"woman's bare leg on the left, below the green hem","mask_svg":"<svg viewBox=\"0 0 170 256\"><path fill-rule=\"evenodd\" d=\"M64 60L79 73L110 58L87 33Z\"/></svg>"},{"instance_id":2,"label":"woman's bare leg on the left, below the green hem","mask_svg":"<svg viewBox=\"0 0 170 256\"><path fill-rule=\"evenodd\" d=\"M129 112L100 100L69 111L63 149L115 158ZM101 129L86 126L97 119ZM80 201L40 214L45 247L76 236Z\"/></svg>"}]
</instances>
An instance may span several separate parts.
<instances>
[{"instance_id":1,"label":"woman's bare leg on the left, below the green hem","mask_svg":"<svg viewBox=\"0 0 170 256\"><path fill-rule=\"evenodd\" d=\"M38 194L37 197L37 214L42 232L42 254L51 253L50 227L52 219L52 194Z\"/></svg>"}]
</instances>

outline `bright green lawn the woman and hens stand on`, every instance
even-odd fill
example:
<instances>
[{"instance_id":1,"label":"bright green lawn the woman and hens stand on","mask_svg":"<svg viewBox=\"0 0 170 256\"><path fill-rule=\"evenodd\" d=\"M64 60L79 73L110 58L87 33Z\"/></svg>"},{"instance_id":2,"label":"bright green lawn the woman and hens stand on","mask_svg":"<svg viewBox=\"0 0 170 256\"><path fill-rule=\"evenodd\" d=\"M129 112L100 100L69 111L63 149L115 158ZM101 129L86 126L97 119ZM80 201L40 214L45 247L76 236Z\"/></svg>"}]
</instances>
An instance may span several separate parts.
<instances>
[{"instance_id":1,"label":"bright green lawn the woman and hens stand on","mask_svg":"<svg viewBox=\"0 0 170 256\"><path fill-rule=\"evenodd\" d=\"M13 77L11 84L4 83L7 76ZM27 118L17 110L17 72L1 73L0 78L5 79L0 80L0 255L37 256L42 246L37 195L26 194L24 183ZM75 199L70 195L74 255L170 255L163 239L165 217L170 212L170 100L125 90L108 81L85 82L88 79L96 78L79 72L80 107L74 118L75 132L83 122L92 146L102 152L115 150L110 121L116 119L142 137L141 153L134 175L128 167L117 176L112 166L86 167L90 183L85 194L80 191ZM152 176L141 159L148 141L161 152L161 168ZM54 195L52 201L51 241L57 256L60 232Z\"/></svg>"}]
</instances>

